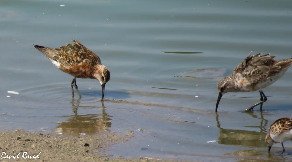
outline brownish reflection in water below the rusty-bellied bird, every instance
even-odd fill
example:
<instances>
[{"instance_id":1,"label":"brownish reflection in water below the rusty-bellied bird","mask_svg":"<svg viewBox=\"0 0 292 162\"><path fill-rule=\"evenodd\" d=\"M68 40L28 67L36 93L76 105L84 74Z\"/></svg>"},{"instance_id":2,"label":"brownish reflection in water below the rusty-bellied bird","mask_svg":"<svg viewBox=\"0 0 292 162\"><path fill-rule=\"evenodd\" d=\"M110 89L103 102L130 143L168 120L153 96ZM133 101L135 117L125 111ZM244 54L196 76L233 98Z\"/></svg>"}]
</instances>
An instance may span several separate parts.
<instances>
[{"instance_id":1,"label":"brownish reflection in water below the rusty-bellied bird","mask_svg":"<svg viewBox=\"0 0 292 162\"><path fill-rule=\"evenodd\" d=\"M72 110L74 115L60 116L67 118L65 122L58 122L55 128L56 132L80 136L82 134L92 135L103 130L109 130L111 127L112 116L105 113L105 106L102 103L101 107L96 106L80 106L80 99L75 100L72 98ZM78 114L78 108L102 108L101 114Z\"/></svg>"}]
</instances>

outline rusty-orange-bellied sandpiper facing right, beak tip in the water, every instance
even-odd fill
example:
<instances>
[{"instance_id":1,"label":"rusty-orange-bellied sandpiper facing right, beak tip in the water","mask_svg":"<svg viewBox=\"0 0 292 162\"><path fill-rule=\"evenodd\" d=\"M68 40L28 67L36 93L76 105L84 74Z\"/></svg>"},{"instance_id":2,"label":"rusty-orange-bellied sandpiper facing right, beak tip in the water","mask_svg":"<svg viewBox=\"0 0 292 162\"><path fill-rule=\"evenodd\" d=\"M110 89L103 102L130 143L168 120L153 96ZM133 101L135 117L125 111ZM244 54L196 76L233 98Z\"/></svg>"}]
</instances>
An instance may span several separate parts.
<instances>
[{"instance_id":1,"label":"rusty-orange-bellied sandpiper facing right, beak tip in the water","mask_svg":"<svg viewBox=\"0 0 292 162\"><path fill-rule=\"evenodd\" d=\"M72 42L74 44L67 43L59 48L39 45L34 45L34 47L45 54L57 68L74 77L71 82L72 98L74 98L73 85L79 94L79 99L81 98L76 78L91 78L99 80L102 91L101 101L103 101L105 84L110 79L108 68L101 64L100 58L93 51L76 40Z\"/></svg>"}]
</instances>

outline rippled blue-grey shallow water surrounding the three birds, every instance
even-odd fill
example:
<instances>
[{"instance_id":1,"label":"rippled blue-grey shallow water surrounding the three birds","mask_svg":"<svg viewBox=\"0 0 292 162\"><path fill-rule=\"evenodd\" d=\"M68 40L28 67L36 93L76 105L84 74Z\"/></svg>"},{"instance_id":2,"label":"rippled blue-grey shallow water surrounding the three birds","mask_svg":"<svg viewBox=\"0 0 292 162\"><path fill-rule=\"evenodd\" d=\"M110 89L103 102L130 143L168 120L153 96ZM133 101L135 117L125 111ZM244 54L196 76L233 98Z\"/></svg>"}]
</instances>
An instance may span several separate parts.
<instances>
[{"instance_id":1,"label":"rippled blue-grey shallow water surrounding the three birds","mask_svg":"<svg viewBox=\"0 0 292 162\"><path fill-rule=\"evenodd\" d=\"M3 130L133 130L132 140L109 151L114 157L283 161L281 144L268 157L264 137L276 119L292 117L291 69L263 89L264 112L242 113L259 101L258 92L225 94L214 111L216 84L250 51L292 56L291 1L0 3ZM82 98L72 100L73 77L32 45L59 47L71 39L109 68L103 103L93 79L77 79ZM284 146L284 161L291 161L291 142Z\"/></svg>"}]
</instances>

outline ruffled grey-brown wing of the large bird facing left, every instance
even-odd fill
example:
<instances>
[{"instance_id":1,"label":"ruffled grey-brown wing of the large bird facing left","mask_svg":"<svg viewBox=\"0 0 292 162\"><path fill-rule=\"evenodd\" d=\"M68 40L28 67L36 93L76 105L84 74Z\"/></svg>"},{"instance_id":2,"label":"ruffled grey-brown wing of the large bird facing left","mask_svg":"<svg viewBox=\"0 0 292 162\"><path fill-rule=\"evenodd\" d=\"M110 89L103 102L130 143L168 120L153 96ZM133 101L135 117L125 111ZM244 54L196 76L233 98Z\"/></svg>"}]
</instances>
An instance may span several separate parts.
<instances>
[{"instance_id":1,"label":"ruffled grey-brown wing of the large bird facing left","mask_svg":"<svg viewBox=\"0 0 292 162\"><path fill-rule=\"evenodd\" d=\"M261 53L251 56L251 53L232 72L232 76L240 74L251 83L267 80L268 77L276 75L281 70L287 69L292 64L292 59L276 61L274 57ZM235 78L236 79L236 78Z\"/></svg>"}]
</instances>

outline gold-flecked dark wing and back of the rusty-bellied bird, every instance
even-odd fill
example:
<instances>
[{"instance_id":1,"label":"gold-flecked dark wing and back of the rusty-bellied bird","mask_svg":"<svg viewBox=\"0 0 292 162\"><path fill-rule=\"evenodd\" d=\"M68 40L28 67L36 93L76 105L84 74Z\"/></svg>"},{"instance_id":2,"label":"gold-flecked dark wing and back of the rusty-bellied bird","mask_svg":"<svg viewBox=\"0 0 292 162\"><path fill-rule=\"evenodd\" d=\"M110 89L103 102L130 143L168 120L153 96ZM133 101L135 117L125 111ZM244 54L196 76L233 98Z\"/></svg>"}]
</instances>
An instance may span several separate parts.
<instances>
[{"instance_id":1,"label":"gold-flecked dark wing and back of the rusty-bellied bird","mask_svg":"<svg viewBox=\"0 0 292 162\"><path fill-rule=\"evenodd\" d=\"M72 40L74 44L66 44L60 48L49 48L44 46L35 47L39 49L47 57L58 61L63 66L75 66L81 62L90 63L93 66L101 64L100 58L91 50L76 40Z\"/></svg>"}]
</instances>

